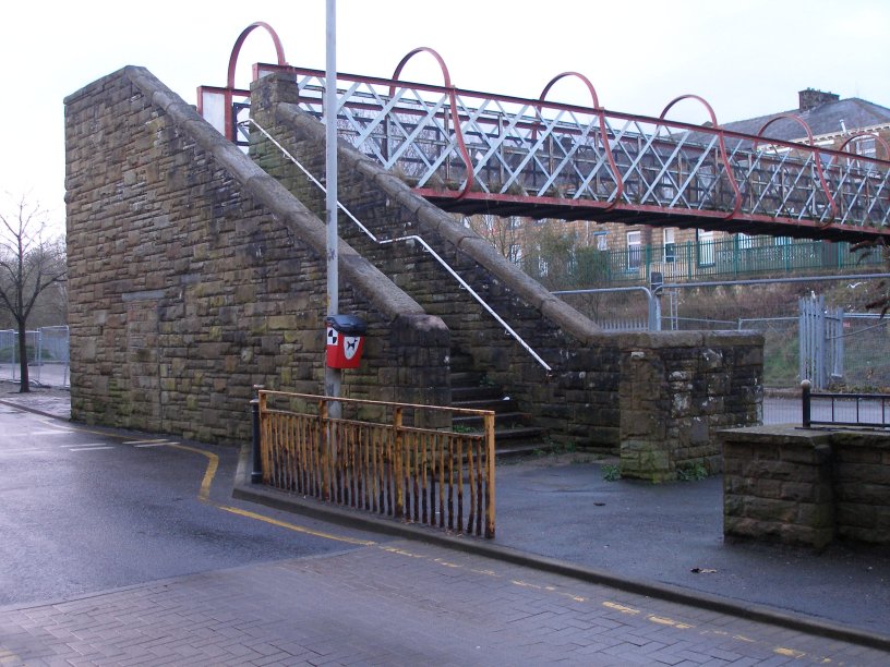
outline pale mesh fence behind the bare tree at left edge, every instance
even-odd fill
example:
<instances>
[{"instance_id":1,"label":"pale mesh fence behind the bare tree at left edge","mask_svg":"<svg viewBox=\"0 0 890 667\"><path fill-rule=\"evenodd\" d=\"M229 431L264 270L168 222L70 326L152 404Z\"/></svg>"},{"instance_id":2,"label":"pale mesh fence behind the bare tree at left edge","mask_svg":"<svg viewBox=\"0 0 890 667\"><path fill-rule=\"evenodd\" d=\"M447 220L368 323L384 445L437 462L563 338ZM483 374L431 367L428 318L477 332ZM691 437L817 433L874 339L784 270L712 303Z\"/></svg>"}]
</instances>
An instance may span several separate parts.
<instances>
[{"instance_id":1,"label":"pale mesh fence behind the bare tree at left edge","mask_svg":"<svg viewBox=\"0 0 890 667\"><path fill-rule=\"evenodd\" d=\"M46 387L69 387L68 327L41 327L27 331L28 378ZM19 332L0 331L0 379L20 381Z\"/></svg>"}]
</instances>

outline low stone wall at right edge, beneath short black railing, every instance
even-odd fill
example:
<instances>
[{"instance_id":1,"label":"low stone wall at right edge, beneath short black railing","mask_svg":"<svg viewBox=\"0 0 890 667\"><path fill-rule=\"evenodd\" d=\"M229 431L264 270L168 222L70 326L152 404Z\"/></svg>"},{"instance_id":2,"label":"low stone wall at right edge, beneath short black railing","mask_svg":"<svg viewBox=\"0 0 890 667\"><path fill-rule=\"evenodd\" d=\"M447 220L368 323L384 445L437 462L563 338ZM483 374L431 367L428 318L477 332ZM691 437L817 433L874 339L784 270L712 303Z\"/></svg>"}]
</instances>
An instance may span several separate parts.
<instances>
[{"instance_id":1,"label":"low stone wall at right edge, beneath short black railing","mask_svg":"<svg viewBox=\"0 0 890 667\"><path fill-rule=\"evenodd\" d=\"M721 438L727 538L890 544L887 433L759 426Z\"/></svg>"}]
</instances>

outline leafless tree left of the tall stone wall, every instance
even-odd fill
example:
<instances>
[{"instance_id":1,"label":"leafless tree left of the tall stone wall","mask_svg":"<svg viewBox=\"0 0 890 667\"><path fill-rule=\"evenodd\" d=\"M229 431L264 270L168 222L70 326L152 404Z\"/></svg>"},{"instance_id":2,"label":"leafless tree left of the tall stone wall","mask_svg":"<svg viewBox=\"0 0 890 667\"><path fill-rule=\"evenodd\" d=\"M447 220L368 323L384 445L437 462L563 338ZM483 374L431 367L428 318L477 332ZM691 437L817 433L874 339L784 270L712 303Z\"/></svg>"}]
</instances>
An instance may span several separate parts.
<instances>
[{"instance_id":1,"label":"leafless tree left of the tall stone wall","mask_svg":"<svg viewBox=\"0 0 890 667\"><path fill-rule=\"evenodd\" d=\"M27 392L27 320L40 293L65 279L65 252L62 239L50 235L45 210L24 197L13 208L0 211L0 305L19 331L20 391Z\"/></svg>"}]
</instances>

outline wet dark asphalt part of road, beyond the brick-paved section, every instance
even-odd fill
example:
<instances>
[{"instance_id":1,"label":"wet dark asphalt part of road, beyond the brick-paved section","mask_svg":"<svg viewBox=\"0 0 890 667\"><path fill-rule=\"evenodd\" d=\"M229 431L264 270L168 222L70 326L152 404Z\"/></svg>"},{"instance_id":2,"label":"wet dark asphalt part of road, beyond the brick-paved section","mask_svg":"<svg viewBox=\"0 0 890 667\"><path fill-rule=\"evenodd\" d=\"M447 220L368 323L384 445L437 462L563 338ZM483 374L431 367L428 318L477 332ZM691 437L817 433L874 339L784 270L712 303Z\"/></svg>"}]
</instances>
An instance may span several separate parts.
<instances>
[{"instance_id":1,"label":"wet dark asphalt part of road, beyond the brick-paved section","mask_svg":"<svg viewBox=\"0 0 890 667\"><path fill-rule=\"evenodd\" d=\"M269 521L294 518L272 510L253 518L229 497L234 465L230 449L0 405L0 605L332 554L369 538L321 536L326 526L303 519L282 530Z\"/></svg>"}]
</instances>

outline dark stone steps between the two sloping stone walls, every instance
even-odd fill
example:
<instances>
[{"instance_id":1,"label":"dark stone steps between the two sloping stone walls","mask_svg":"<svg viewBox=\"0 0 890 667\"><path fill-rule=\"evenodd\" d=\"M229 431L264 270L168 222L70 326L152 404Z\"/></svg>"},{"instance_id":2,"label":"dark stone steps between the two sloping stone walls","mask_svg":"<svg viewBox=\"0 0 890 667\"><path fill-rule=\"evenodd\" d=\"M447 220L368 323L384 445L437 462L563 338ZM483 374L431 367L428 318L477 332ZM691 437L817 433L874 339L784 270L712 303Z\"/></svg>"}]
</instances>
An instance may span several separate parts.
<instances>
[{"instance_id":1,"label":"dark stone steps between the two sloping stone walls","mask_svg":"<svg viewBox=\"0 0 890 667\"><path fill-rule=\"evenodd\" d=\"M549 449L546 433L531 423L530 416L519 410L503 387L489 381L484 373L473 367L469 354L452 350L450 359L452 407L494 411L494 447L498 458ZM456 429L483 428L481 416L455 415L452 425Z\"/></svg>"}]
</instances>

